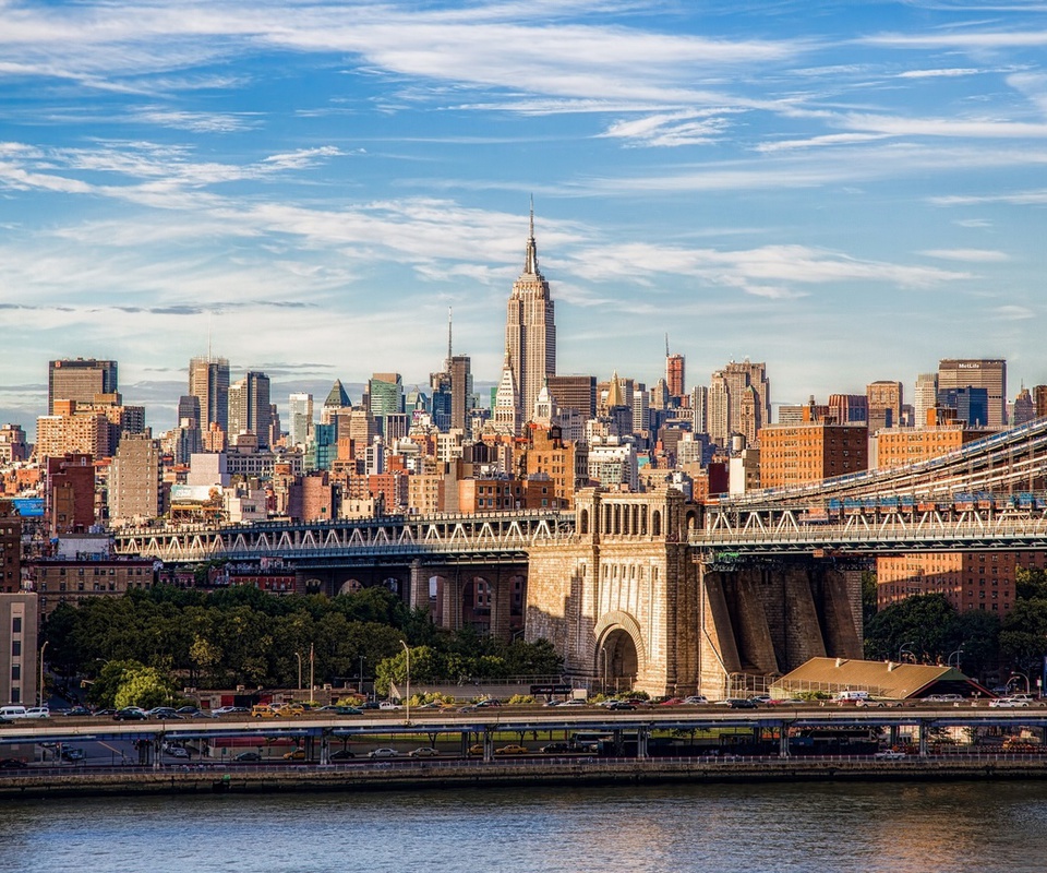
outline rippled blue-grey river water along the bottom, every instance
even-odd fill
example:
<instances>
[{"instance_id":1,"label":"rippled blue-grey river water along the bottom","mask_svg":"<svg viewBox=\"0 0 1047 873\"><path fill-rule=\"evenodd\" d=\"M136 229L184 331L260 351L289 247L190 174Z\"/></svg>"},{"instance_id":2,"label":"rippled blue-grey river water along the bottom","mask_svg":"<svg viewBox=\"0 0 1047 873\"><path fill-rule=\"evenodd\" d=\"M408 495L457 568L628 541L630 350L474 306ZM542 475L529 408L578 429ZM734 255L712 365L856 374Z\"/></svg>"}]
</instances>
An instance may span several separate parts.
<instances>
[{"instance_id":1,"label":"rippled blue-grey river water along the bottom","mask_svg":"<svg viewBox=\"0 0 1047 873\"><path fill-rule=\"evenodd\" d=\"M1047 870L1047 784L896 782L20 800L0 870Z\"/></svg>"}]
</instances>

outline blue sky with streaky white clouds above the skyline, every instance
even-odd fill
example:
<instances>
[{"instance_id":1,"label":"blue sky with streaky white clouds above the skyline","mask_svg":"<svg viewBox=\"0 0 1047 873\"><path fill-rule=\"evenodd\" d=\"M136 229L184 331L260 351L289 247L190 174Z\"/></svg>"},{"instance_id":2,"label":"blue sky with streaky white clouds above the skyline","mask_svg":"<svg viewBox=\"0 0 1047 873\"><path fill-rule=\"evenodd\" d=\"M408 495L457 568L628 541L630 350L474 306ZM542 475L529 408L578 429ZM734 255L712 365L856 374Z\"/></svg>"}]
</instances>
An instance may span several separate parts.
<instances>
[{"instance_id":1,"label":"blue sky with streaky white clouds above the skyline","mask_svg":"<svg viewBox=\"0 0 1047 873\"><path fill-rule=\"evenodd\" d=\"M557 372L771 399L1047 382L1047 0L0 0L0 419L119 362L322 403L496 383L528 211ZM286 422L285 422L286 424Z\"/></svg>"}]
</instances>

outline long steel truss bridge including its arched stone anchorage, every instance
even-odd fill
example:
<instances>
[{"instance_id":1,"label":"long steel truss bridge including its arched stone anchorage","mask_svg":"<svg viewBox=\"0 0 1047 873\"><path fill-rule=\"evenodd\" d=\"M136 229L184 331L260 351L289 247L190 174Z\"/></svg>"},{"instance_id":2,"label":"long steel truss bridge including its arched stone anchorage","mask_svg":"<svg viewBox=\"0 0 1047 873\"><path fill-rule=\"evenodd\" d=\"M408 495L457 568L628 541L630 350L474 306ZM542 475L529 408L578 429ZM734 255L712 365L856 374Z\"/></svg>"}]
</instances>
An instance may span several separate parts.
<instances>
[{"instance_id":1,"label":"long steel truss bridge including its arched stone anchorage","mask_svg":"<svg viewBox=\"0 0 1047 873\"><path fill-rule=\"evenodd\" d=\"M573 513L153 526L117 550L278 559L330 595L386 585L443 626L546 638L571 675L719 696L861 657L875 555L1047 550L1045 465L1039 419L918 464L702 503L588 489Z\"/></svg>"}]
</instances>

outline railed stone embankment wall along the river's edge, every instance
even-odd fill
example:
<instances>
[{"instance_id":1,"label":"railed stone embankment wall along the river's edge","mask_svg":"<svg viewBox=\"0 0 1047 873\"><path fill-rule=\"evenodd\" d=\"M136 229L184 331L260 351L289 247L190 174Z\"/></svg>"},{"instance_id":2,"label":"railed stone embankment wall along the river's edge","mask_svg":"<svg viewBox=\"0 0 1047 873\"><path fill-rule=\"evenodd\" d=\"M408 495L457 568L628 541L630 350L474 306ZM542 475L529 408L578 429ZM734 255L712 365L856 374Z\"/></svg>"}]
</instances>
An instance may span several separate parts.
<instances>
[{"instance_id":1,"label":"railed stone embankment wall along the river's edge","mask_svg":"<svg viewBox=\"0 0 1047 873\"><path fill-rule=\"evenodd\" d=\"M563 758L426 761L330 767L164 767L21 770L0 799L200 793L446 790L484 786L628 786L702 782L1044 779L1047 760L1024 755L871 758Z\"/></svg>"}]
</instances>

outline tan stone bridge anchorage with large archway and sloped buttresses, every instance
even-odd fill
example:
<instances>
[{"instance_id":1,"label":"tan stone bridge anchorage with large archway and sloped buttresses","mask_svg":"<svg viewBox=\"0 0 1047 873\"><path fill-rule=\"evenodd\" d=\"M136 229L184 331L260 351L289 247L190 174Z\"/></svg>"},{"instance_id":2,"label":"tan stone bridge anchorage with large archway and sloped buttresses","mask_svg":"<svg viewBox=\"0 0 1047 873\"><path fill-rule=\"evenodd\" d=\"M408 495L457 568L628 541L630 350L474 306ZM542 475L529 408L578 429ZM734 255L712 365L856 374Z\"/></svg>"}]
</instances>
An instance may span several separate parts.
<instances>
[{"instance_id":1,"label":"tan stone bridge anchorage with large archway and sloped buttresses","mask_svg":"<svg viewBox=\"0 0 1047 873\"><path fill-rule=\"evenodd\" d=\"M706 566L700 506L581 491L569 539L531 547L526 638L595 690L724 697L813 657L862 657L861 585L829 562Z\"/></svg>"}]
</instances>

